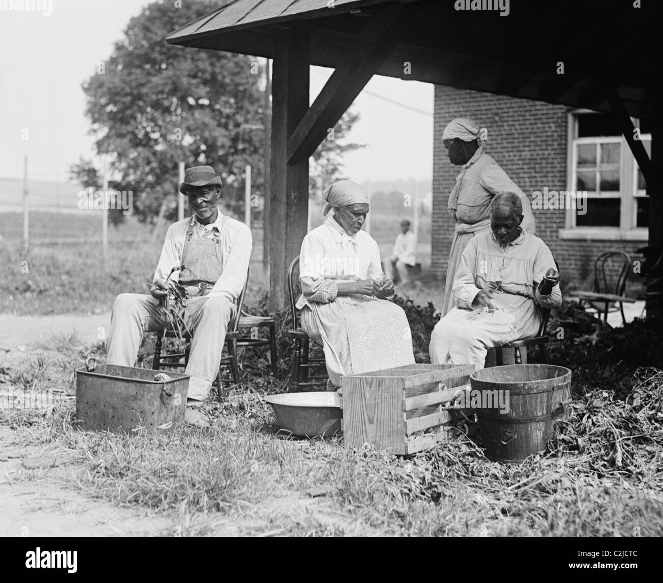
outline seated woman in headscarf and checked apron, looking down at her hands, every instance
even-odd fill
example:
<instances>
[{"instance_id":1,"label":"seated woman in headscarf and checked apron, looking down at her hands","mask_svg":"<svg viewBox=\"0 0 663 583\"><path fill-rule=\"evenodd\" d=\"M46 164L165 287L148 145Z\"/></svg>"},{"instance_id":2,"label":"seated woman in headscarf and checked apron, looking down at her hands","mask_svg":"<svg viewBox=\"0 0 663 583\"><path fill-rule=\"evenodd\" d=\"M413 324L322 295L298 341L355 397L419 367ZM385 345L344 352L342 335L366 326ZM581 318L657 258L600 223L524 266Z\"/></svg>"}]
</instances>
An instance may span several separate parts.
<instances>
[{"instance_id":1,"label":"seated woman in headscarf and checked apron, looking down at her hands","mask_svg":"<svg viewBox=\"0 0 663 583\"><path fill-rule=\"evenodd\" d=\"M369 200L351 180L323 193L327 220L302 241L302 329L323 347L330 384L342 375L414 363L410 325L385 278L377 242L362 231ZM329 386L329 385L328 385ZM330 387L331 388L331 387Z\"/></svg>"}]
</instances>

